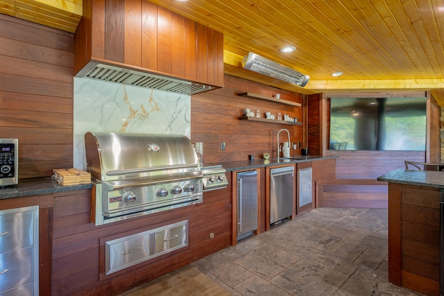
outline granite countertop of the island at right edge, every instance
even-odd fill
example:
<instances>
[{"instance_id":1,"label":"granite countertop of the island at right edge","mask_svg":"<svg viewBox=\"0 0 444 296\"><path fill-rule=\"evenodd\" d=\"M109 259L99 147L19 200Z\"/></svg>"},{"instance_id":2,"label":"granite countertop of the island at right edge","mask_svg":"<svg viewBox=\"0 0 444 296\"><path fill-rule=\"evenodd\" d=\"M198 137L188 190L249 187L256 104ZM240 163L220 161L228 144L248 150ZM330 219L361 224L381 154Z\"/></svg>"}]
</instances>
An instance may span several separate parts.
<instances>
[{"instance_id":1,"label":"granite countertop of the island at right edge","mask_svg":"<svg viewBox=\"0 0 444 296\"><path fill-rule=\"evenodd\" d=\"M444 173L398 169L377 177L378 181L444 189Z\"/></svg>"}]
</instances>

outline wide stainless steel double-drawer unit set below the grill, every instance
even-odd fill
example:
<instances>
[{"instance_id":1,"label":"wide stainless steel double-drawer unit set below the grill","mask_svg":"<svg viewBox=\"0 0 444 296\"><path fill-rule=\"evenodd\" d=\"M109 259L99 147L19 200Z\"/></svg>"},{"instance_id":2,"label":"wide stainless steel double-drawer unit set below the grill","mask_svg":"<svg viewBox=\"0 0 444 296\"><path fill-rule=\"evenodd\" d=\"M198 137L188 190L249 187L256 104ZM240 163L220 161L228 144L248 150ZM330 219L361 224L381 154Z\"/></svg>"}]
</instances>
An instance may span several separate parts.
<instances>
[{"instance_id":1,"label":"wide stainless steel double-drawer unit set below the grill","mask_svg":"<svg viewBox=\"0 0 444 296\"><path fill-rule=\"evenodd\" d=\"M105 275L188 245L188 220L105 242Z\"/></svg>"}]
</instances>

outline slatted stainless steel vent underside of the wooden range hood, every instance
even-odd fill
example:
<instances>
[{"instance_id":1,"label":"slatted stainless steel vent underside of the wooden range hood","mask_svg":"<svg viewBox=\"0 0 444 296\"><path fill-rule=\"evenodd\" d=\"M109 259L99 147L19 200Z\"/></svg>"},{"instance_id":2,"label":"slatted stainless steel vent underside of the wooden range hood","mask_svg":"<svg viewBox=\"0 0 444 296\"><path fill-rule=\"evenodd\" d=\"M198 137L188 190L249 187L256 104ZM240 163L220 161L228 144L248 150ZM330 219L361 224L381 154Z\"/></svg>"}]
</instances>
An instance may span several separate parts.
<instances>
[{"instance_id":1,"label":"slatted stainless steel vent underside of the wooden range hood","mask_svg":"<svg viewBox=\"0 0 444 296\"><path fill-rule=\"evenodd\" d=\"M176 94L187 94L190 96L200 92L207 92L208 90L214 88L211 85L202 85L186 80L171 78L169 76L160 76L148 72L114 67L108 64L89 62L87 67L92 69L80 77L116 82L123 85L158 89L164 92L173 92Z\"/></svg>"}]
</instances>

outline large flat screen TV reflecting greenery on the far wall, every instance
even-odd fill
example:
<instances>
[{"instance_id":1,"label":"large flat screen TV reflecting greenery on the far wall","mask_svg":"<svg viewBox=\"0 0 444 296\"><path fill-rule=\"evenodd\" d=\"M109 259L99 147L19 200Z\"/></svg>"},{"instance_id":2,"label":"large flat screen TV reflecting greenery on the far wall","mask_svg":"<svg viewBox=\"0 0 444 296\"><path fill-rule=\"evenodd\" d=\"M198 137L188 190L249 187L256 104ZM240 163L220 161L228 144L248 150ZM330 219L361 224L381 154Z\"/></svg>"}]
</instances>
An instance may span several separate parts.
<instances>
[{"instance_id":1,"label":"large flat screen TV reflecting greenery on the far wall","mask_svg":"<svg viewBox=\"0 0 444 296\"><path fill-rule=\"evenodd\" d=\"M331 98L330 150L425 150L427 98Z\"/></svg>"}]
</instances>

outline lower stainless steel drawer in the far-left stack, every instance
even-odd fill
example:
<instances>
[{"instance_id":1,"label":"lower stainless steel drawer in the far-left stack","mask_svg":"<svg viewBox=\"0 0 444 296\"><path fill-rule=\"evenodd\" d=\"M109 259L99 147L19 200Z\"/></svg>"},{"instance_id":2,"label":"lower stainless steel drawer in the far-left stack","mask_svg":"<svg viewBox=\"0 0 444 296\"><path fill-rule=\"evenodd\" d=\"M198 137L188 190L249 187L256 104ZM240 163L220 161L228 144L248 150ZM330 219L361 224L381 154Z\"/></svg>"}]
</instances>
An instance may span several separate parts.
<instances>
[{"instance_id":1,"label":"lower stainless steel drawer in the far-left stack","mask_svg":"<svg viewBox=\"0 0 444 296\"><path fill-rule=\"evenodd\" d=\"M33 247L0 253L0 290L33 281Z\"/></svg>"}]
</instances>

